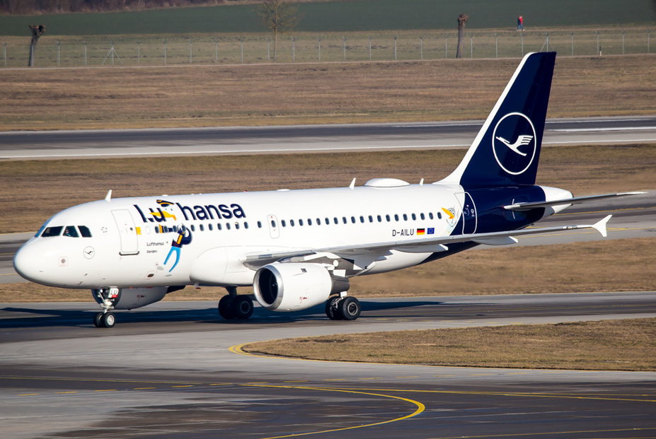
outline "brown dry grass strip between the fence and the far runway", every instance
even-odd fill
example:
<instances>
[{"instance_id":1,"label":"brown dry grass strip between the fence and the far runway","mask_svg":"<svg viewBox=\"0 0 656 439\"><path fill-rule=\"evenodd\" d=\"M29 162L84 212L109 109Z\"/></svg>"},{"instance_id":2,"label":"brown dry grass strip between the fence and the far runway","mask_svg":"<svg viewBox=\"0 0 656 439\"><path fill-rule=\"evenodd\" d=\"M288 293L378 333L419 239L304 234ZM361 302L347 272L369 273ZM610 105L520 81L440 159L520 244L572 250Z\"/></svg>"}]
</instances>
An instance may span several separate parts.
<instances>
[{"instance_id":1,"label":"brown dry grass strip between the fence and the far runway","mask_svg":"<svg viewBox=\"0 0 656 439\"><path fill-rule=\"evenodd\" d=\"M656 57L558 57L548 117L654 112ZM0 130L484 118L519 59L0 69Z\"/></svg>"}]
</instances>

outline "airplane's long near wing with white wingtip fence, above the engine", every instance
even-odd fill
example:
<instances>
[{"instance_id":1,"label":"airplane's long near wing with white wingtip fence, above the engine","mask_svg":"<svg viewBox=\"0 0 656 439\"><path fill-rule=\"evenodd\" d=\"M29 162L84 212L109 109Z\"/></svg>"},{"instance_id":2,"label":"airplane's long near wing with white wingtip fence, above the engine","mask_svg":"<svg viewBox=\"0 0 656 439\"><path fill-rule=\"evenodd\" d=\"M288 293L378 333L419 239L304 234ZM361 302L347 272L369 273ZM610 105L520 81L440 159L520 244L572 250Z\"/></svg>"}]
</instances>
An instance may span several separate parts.
<instances>
[{"instance_id":1,"label":"airplane's long near wing with white wingtip fence, above the engine","mask_svg":"<svg viewBox=\"0 0 656 439\"><path fill-rule=\"evenodd\" d=\"M564 230L577 230L585 228L594 228L599 233L601 233L602 236L606 237L606 224L611 219L611 217L612 215L606 216L594 224L524 228L521 230L507 230L503 232L491 233L468 233L466 235L438 236L435 238L415 238L412 240L374 242L359 245L344 245L340 247L325 247L317 249L297 249L266 254L251 253L246 254L246 259L243 262L251 267L260 267L287 257L301 257L316 253L332 253L347 256L363 254L367 252L380 252L384 250L398 250L400 252L410 253L444 252L449 250L449 244L454 244L455 242L473 241L477 242L478 244L487 245L510 245L517 242L517 239L514 238L515 236L536 235L540 233L553 233L561 232Z\"/></svg>"}]
</instances>

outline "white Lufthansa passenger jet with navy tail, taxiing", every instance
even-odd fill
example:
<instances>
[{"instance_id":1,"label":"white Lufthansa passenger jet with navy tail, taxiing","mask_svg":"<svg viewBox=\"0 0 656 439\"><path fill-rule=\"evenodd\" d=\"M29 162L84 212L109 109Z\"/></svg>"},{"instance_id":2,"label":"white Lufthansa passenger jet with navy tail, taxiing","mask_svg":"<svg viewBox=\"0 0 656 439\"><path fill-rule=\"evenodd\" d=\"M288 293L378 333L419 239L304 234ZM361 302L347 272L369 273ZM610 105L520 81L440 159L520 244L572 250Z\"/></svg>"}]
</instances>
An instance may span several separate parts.
<instances>
[{"instance_id":1,"label":"white Lufthansa passenger jet with navy tail, taxiing","mask_svg":"<svg viewBox=\"0 0 656 439\"><path fill-rule=\"evenodd\" d=\"M18 274L47 286L88 288L103 308L139 308L187 285L223 286L226 319L246 319L255 299L273 311L326 303L332 320L355 320L352 276L413 267L478 244L509 245L519 235L594 228L526 226L573 198L535 185L556 54L522 59L460 165L418 185L375 178L362 187L162 195L81 204L57 213L16 253ZM508 146L510 139L522 152ZM519 143L518 143L519 142Z\"/></svg>"}]
</instances>

